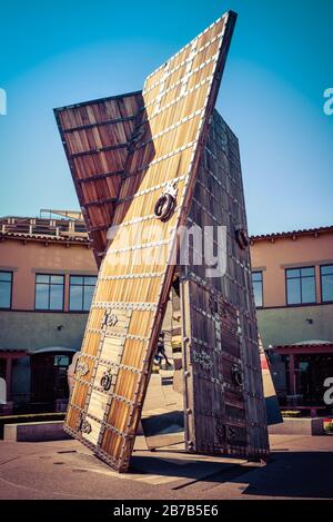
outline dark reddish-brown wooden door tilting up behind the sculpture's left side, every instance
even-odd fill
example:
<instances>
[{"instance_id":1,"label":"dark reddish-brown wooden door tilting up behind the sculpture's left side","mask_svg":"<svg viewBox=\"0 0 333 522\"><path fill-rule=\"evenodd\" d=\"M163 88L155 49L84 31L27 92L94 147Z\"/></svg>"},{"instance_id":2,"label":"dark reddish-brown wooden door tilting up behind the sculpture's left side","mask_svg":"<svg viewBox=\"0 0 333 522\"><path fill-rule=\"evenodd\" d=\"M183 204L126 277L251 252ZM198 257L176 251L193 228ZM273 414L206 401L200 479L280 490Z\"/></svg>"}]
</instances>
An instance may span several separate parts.
<instances>
[{"instance_id":1,"label":"dark reddish-brown wooden door tilting up behind the sculpture's left side","mask_svg":"<svg viewBox=\"0 0 333 522\"><path fill-rule=\"evenodd\" d=\"M54 110L98 265L142 105L141 92L131 92Z\"/></svg>"}]
</instances>

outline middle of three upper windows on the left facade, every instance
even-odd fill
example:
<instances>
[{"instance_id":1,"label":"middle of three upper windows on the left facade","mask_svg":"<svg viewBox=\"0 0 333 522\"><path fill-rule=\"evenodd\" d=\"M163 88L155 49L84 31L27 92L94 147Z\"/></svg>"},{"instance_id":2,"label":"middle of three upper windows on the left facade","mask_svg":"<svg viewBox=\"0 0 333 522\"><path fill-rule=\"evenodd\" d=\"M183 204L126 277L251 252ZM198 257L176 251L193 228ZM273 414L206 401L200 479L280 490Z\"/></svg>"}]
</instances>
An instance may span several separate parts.
<instances>
[{"instance_id":1,"label":"middle of three upper windows on the left facade","mask_svg":"<svg viewBox=\"0 0 333 522\"><path fill-rule=\"evenodd\" d=\"M36 274L36 309L63 309L64 276Z\"/></svg>"}]
</instances>

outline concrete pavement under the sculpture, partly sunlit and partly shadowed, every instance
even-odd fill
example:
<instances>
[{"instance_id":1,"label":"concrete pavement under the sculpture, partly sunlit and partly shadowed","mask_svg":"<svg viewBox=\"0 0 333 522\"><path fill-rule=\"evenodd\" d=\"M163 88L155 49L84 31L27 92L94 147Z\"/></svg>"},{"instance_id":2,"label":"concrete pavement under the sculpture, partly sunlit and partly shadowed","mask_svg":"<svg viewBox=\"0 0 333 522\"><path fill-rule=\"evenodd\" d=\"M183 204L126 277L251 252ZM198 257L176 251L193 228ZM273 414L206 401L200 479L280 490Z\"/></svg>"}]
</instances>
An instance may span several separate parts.
<instances>
[{"instance_id":1,"label":"concrete pavement under the sculpture, partly sunlit and partly shadowed","mask_svg":"<svg viewBox=\"0 0 333 522\"><path fill-rule=\"evenodd\" d=\"M77 441L0 441L1 499L333 499L333 436L272 435L268 464L154 453L139 437L119 475Z\"/></svg>"}]
</instances>

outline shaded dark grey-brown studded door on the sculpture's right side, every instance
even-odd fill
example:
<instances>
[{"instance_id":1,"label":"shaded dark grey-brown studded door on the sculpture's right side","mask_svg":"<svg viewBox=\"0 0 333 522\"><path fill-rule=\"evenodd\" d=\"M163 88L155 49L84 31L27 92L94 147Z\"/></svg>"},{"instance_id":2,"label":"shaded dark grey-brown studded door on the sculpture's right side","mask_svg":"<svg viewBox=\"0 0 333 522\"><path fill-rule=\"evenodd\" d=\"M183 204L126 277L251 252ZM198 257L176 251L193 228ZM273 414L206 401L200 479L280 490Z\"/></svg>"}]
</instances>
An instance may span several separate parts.
<instances>
[{"instance_id":1,"label":"shaded dark grey-brown studded door on the sculpture's right side","mask_svg":"<svg viewBox=\"0 0 333 522\"><path fill-rule=\"evenodd\" d=\"M216 111L188 223L226 227L226 272L209 277L208 264L180 267L186 446L263 457L269 440L250 249L236 242L236 230L246 230L239 146Z\"/></svg>"}]
</instances>

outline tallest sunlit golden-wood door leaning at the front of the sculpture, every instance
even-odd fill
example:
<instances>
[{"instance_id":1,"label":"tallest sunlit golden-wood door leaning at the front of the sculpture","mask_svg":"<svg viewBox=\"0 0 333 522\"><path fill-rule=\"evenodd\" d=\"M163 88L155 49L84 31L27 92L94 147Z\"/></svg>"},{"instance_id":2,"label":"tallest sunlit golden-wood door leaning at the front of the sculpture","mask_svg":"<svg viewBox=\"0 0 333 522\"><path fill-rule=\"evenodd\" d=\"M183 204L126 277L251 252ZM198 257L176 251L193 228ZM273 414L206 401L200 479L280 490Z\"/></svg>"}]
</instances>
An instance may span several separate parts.
<instances>
[{"instance_id":1,"label":"tallest sunlit golden-wood door leaning at the front of the sculpture","mask_svg":"<svg viewBox=\"0 0 333 522\"><path fill-rule=\"evenodd\" d=\"M123 161L125 180L118 190L119 179L115 179L117 201L110 201L109 224L112 223L114 234L103 256L81 348L82 354L94 357L91 385L84 408L80 411L81 422L73 427L72 403L67 421L71 433L119 471L129 467L172 283L174 266L171 260L176 230L188 217L234 21L234 13L228 12L148 77L142 91L143 107L137 111L130 142L119 140L105 150L105 147L99 148L101 136L97 142L93 135L93 152L85 148L74 154L74 159L78 154L81 160L99 158L103 169L108 170L113 168L108 162L108 155L112 159L113 152L128 150ZM90 132L88 138L92 140ZM83 175L87 176L85 171ZM153 210L169 180L173 181L176 190L176 207L170 219L162 223L157 220ZM90 195L83 204L89 220L93 223L91 232L95 232L97 227L102 229L108 223L103 206L93 199L93 190L84 195L85 198ZM103 205L108 205L107 199ZM158 237L157 224L160 225ZM97 248L100 254L101 238ZM108 324L108 328L95 325L94 316L100 311L101 321ZM133 314L129 322L124 318L127 313ZM115 321L114 316L119 319ZM143 335L134 338L130 332L140 328L143 328ZM109 355L101 358L101 354L108 353L108 346L112 344L109 336L112 338L115 334L123 341L123 346L108 390L107 405L103 406L95 390L101 384L101 368L108 366ZM113 362L110 363L114 367ZM77 380L73 397L81 386ZM102 407L103 420L100 418Z\"/></svg>"}]
</instances>

